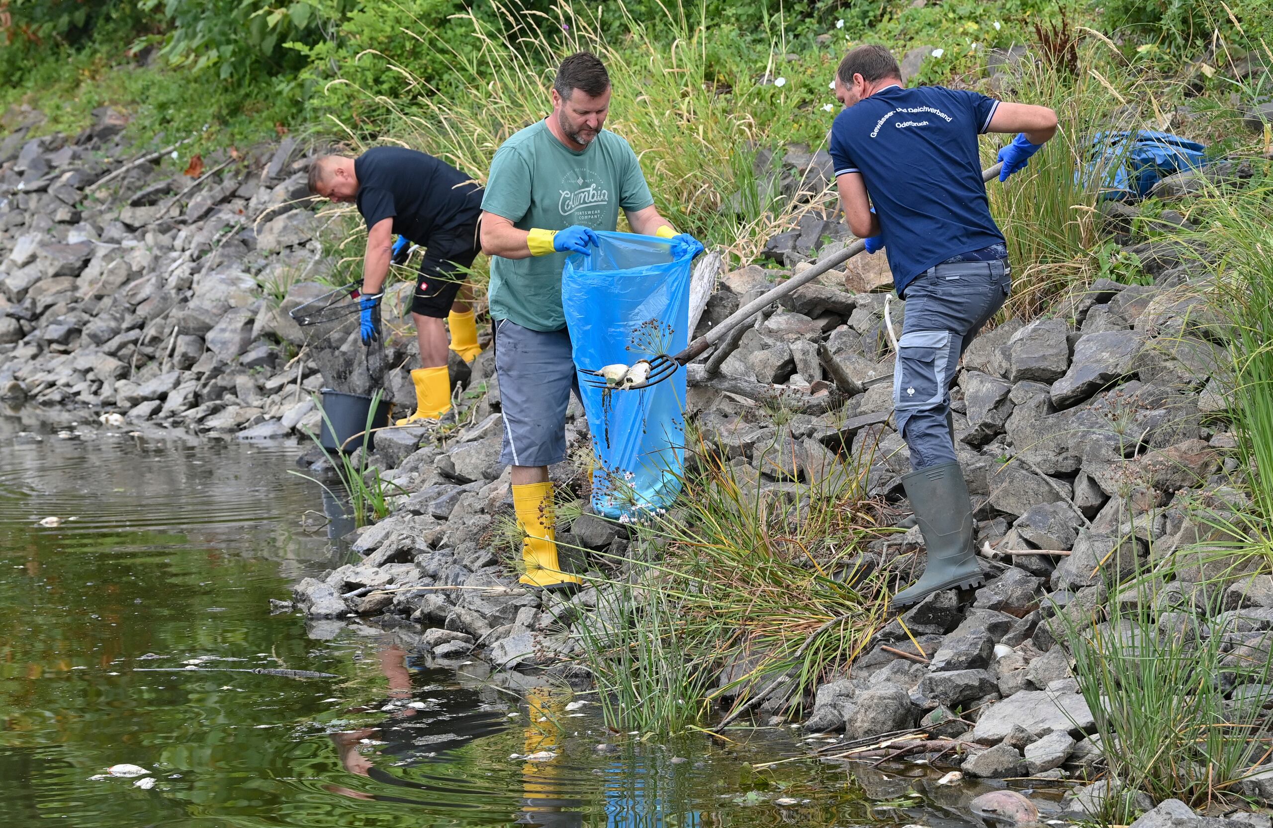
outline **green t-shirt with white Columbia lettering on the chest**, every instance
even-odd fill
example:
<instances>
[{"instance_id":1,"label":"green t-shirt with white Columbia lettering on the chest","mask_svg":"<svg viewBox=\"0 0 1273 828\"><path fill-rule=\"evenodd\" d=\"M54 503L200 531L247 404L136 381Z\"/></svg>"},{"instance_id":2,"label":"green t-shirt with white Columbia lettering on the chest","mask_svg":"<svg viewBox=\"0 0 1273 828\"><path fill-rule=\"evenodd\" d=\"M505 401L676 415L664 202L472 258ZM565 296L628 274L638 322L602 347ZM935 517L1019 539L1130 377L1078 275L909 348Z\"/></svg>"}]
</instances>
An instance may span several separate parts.
<instances>
[{"instance_id":1,"label":"green t-shirt with white Columbia lettering on the chest","mask_svg":"<svg viewBox=\"0 0 1273 828\"><path fill-rule=\"evenodd\" d=\"M566 149L545 121L521 130L495 151L481 209L519 230L582 224L614 230L620 207L654 204L628 141L602 130L582 151ZM565 253L490 259L490 315L532 331L560 331Z\"/></svg>"}]
</instances>

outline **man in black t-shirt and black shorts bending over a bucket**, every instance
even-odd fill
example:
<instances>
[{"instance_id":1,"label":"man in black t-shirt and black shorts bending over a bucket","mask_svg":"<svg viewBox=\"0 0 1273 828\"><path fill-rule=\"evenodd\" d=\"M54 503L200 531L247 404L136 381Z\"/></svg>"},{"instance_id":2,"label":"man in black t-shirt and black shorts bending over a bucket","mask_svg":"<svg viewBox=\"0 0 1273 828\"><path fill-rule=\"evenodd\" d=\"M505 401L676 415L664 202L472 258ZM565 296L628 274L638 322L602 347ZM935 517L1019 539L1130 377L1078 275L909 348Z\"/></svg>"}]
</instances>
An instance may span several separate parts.
<instances>
[{"instance_id":1,"label":"man in black t-shirt and black shorts bending over a bucket","mask_svg":"<svg viewBox=\"0 0 1273 828\"><path fill-rule=\"evenodd\" d=\"M398 420L398 425L440 418L451 410L448 336L442 318L447 317L451 326L451 350L468 361L481 352L467 286L457 299L465 268L481 249L477 237L481 186L432 155L377 146L358 158L318 158L309 168L309 192L332 201L353 201L367 221L359 300L363 345L370 345L381 335L384 279L390 263L397 261L393 234L425 248L411 301L421 365L411 371L416 410Z\"/></svg>"}]
</instances>

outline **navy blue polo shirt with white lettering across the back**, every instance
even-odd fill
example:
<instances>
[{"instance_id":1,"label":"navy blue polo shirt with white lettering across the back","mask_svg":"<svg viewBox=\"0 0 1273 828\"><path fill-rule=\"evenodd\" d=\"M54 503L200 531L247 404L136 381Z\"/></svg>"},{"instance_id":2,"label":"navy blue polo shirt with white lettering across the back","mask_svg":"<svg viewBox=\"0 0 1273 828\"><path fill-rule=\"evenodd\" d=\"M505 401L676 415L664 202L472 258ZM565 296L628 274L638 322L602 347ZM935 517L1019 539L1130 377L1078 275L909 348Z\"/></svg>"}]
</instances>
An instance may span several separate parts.
<instances>
[{"instance_id":1,"label":"navy blue polo shirt with white lettering across the back","mask_svg":"<svg viewBox=\"0 0 1273 828\"><path fill-rule=\"evenodd\" d=\"M835 116L835 176L864 179L899 296L933 265L1003 244L976 146L998 106L975 92L889 86Z\"/></svg>"}]
</instances>

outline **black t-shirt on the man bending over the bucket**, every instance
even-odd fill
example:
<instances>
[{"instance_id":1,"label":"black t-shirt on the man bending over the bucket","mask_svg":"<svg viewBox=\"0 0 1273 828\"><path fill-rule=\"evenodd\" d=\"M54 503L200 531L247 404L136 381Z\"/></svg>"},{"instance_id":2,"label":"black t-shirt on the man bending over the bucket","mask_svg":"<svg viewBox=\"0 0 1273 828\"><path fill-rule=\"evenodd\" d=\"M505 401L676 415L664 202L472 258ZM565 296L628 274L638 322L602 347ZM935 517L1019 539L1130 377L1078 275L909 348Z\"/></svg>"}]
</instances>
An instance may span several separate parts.
<instances>
[{"instance_id":1,"label":"black t-shirt on the man bending over the bucket","mask_svg":"<svg viewBox=\"0 0 1273 828\"><path fill-rule=\"evenodd\" d=\"M367 229L393 219L393 231L429 247L430 237L472 226L482 188L451 164L401 146L376 146L354 159L358 211Z\"/></svg>"}]
</instances>

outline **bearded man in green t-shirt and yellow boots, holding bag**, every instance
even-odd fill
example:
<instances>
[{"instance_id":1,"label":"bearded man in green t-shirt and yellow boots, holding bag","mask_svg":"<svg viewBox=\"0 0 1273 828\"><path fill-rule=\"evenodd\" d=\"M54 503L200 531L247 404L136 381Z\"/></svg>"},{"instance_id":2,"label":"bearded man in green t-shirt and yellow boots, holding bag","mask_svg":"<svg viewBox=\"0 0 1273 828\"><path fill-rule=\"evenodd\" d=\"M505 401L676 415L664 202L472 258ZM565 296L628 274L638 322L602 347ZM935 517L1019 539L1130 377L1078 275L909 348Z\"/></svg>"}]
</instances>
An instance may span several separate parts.
<instances>
[{"instance_id":1,"label":"bearded man in green t-shirt and yellow boots, holding bag","mask_svg":"<svg viewBox=\"0 0 1273 828\"><path fill-rule=\"evenodd\" d=\"M527 534L522 583L533 586L580 583L558 562L547 468L565 459L565 411L575 385L561 310L566 254L596 244L594 230L615 230L620 209L634 233L703 249L658 215L628 141L601 128L610 93L610 75L594 55L566 57L552 84L552 114L504 141L481 204L504 413L499 459L512 466L513 506Z\"/></svg>"}]
</instances>

